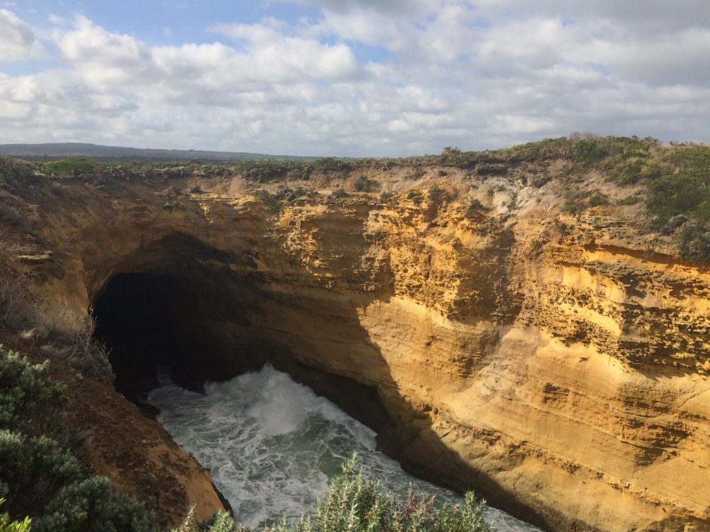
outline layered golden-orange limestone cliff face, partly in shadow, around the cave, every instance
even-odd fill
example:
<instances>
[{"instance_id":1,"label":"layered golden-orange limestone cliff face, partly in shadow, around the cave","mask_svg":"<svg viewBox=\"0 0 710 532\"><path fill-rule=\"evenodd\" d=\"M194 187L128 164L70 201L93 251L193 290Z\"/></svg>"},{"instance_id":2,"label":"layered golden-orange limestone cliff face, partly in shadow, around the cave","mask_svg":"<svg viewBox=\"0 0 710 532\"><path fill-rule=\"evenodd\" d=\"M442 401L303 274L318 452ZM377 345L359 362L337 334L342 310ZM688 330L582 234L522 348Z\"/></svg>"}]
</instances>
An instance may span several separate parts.
<instances>
[{"instance_id":1,"label":"layered golden-orange limestone cliff face, partly in shadow, around the cave","mask_svg":"<svg viewBox=\"0 0 710 532\"><path fill-rule=\"evenodd\" d=\"M324 174L280 208L240 175L46 187L31 269L77 308L121 273L183 279L185 373L272 360L353 410L371 392L383 448L523 519L708 530L710 272L648 252L640 205L562 213L558 184L526 186L546 164L369 170L388 201Z\"/></svg>"}]
</instances>

